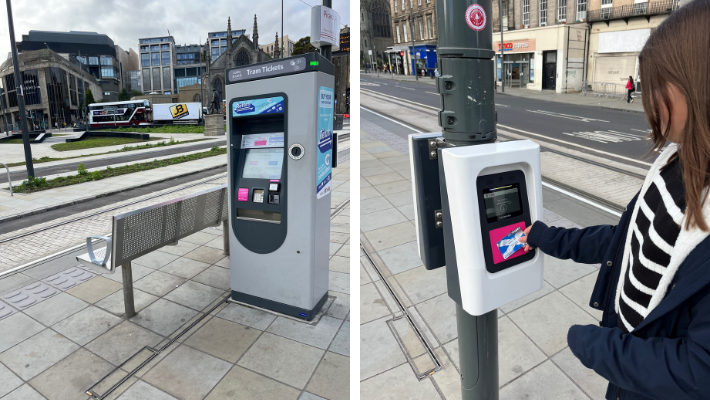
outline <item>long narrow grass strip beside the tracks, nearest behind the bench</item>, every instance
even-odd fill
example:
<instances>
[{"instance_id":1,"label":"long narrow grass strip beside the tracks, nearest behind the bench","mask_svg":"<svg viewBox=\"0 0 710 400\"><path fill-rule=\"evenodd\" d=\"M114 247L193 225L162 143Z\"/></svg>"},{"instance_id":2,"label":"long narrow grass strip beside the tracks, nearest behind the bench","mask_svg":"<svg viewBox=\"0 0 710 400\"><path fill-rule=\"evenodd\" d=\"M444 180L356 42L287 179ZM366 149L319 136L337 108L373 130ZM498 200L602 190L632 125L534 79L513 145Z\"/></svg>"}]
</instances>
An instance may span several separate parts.
<instances>
[{"instance_id":1,"label":"long narrow grass strip beside the tracks, nearest behind the bench","mask_svg":"<svg viewBox=\"0 0 710 400\"><path fill-rule=\"evenodd\" d=\"M13 190L15 193L40 192L42 190L76 185L77 183L98 181L104 178L130 174L133 172L147 171L155 168L167 167L169 165L182 164L184 162L200 160L203 158L214 157L226 153L227 149L220 148L219 146L214 146L210 150L204 151L202 153L194 153L190 155L183 155L180 157L167 158L164 160L154 160L145 163L124 165L117 168L106 167L106 169L104 170L98 170L94 172L86 171L83 168L83 164L80 164L79 173L76 175L60 176L49 181L45 178L30 177L29 179L23 181L20 186L13 188Z\"/></svg>"}]
</instances>

